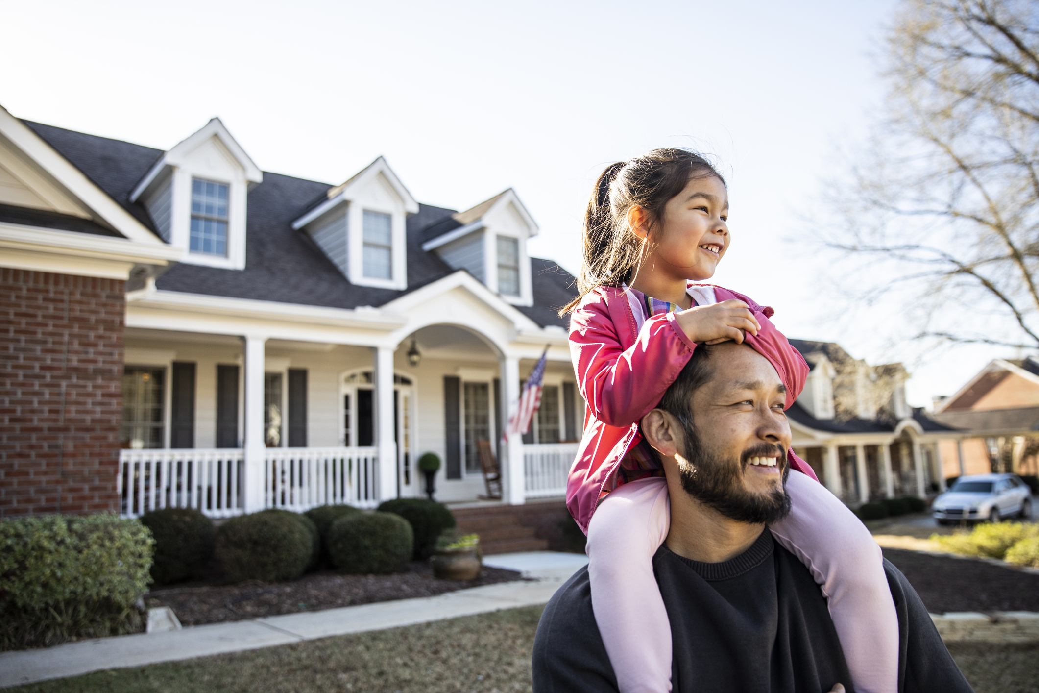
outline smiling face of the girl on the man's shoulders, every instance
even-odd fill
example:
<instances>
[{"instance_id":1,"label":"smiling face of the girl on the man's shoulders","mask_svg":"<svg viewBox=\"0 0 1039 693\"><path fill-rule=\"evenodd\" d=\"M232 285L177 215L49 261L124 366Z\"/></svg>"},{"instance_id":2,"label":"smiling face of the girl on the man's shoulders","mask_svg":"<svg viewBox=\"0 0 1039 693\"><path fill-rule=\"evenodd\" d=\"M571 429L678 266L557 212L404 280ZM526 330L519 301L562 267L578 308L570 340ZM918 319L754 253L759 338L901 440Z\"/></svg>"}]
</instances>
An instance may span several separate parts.
<instances>
[{"instance_id":1,"label":"smiling face of the girl on the man's shoulders","mask_svg":"<svg viewBox=\"0 0 1039 693\"><path fill-rule=\"evenodd\" d=\"M714 176L689 181L664 207L645 264L675 279L711 278L728 247L727 218L728 190L721 181Z\"/></svg>"}]
</instances>

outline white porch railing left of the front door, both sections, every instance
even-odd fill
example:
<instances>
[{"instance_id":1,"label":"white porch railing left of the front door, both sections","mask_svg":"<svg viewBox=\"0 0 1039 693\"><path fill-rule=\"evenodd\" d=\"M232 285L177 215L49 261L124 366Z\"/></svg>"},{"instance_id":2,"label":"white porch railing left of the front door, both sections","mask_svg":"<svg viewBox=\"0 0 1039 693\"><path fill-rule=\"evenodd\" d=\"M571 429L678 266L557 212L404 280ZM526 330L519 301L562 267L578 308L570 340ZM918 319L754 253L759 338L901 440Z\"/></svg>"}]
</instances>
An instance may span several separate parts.
<instances>
[{"instance_id":1,"label":"white porch railing left of the front door, both sections","mask_svg":"<svg viewBox=\"0 0 1039 693\"><path fill-rule=\"evenodd\" d=\"M267 448L263 507L307 510L318 505L378 505L377 448ZM195 508L210 517L241 514L245 507L241 449L121 450L122 514L159 508Z\"/></svg>"}]
</instances>

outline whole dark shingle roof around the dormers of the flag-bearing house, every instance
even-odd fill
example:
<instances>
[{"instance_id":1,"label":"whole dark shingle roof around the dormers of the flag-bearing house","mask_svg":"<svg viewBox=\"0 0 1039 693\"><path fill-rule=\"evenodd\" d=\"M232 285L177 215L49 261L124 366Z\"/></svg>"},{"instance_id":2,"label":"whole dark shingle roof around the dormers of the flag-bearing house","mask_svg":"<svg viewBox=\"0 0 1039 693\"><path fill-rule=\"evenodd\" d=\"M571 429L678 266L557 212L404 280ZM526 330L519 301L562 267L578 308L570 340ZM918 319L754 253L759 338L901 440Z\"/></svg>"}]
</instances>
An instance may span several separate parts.
<instances>
[{"instance_id":1,"label":"whole dark shingle roof around the dormers of the flag-bearing house","mask_svg":"<svg viewBox=\"0 0 1039 693\"><path fill-rule=\"evenodd\" d=\"M144 225L155 230L148 211L141 205L130 203L129 194L162 156L161 150L39 123L26 121L25 124ZM422 243L430 237L431 229L439 235L452 224L460 225L452 217L457 212L419 205L419 213L408 217L406 226L407 289L375 289L351 284L305 232L293 231L291 225L316 202L324 199L331 187L327 183L264 171L263 183L248 193L245 269L181 263L159 277L158 288L352 309L381 305L455 271L435 252L425 252ZM531 269L535 304L517 306L518 310L539 325L566 327L568 320L559 318L556 311L575 295L568 288L574 277L556 263L538 258L531 259Z\"/></svg>"}]
</instances>

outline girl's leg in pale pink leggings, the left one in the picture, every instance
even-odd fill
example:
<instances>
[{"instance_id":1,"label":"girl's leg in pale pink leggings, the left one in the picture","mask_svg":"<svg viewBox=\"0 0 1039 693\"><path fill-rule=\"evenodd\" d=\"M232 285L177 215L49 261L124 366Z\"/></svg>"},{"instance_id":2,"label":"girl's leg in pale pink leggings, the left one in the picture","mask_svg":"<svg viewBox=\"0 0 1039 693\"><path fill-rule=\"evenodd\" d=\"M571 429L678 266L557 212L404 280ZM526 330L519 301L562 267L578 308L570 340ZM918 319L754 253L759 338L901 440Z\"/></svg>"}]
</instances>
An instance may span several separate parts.
<instances>
[{"instance_id":1,"label":"girl's leg in pale pink leggings, the left one in the picture","mask_svg":"<svg viewBox=\"0 0 1039 693\"><path fill-rule=\"evenodd\" d=\"M652 572L670 525L667 482L618 487L588 525L591 606L621 693L671 690L671 627Z\"/></svg>"}]
</instances>

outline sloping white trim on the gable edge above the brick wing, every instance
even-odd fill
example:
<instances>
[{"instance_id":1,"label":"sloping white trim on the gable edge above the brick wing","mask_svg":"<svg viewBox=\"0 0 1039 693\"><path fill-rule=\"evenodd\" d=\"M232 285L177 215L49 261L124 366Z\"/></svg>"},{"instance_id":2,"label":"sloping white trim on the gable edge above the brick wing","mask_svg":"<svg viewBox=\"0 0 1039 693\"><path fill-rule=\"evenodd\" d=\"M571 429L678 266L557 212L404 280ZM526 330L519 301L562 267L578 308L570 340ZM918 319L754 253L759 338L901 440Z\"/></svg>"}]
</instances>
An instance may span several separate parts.
<instances>
[{"instance_id":1,"label":"sloping white trim on the gable edge above the brick wing","mask_svg":"<svg viewBox=\"0 0 1039 693\"><path fill-rule=\"evenodd\" d=\"M53 176L61 186L115 231L137 243L164 245L158 236L95 185L83 171L72 165L43 137L2 106L0 106L0 134L7 137L12 144Z\"/></svg>"}]
</instances>

